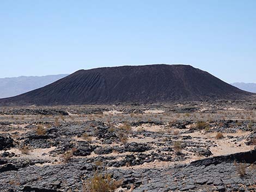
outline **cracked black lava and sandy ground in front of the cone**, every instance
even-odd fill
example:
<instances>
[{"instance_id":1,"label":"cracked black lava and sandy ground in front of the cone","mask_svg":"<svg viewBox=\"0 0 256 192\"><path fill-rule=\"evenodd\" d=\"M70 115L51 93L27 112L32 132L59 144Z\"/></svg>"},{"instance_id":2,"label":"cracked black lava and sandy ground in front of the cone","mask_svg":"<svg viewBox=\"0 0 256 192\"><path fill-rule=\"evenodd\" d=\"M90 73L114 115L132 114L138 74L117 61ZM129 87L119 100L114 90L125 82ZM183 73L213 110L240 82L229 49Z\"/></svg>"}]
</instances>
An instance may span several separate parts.
<instances>
[{"instance_id":1,"label":"cracked black lava and sandy ground in front of the cone","mask_svg":"<svg viewBox=\"0 0 256 192\"><path fill-rule=\"evenodd\" d=\"M0 108L0 191L256 191L255 145L251 102Z\"/></svg>"}]
</instances>

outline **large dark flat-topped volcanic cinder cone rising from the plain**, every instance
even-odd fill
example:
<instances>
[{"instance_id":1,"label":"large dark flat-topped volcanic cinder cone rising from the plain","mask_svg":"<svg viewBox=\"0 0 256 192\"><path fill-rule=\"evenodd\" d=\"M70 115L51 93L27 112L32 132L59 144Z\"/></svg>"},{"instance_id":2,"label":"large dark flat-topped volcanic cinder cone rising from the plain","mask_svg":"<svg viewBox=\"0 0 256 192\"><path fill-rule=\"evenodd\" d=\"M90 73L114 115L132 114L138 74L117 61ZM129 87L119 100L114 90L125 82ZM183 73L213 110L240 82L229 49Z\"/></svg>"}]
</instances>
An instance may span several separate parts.
<instances>
[{"instance_id":1,"label":"large dark flat-topped volcanic cinder cone rising from the plain","mask_svg":"<svg viewBox=\"0 0 256 192\"><path fill-rule=\"evenodd\" d=\"M242 91L190 65L144 65L80 70L0 105L168 103L244 100Z\"/></svg>"}]
</instances>

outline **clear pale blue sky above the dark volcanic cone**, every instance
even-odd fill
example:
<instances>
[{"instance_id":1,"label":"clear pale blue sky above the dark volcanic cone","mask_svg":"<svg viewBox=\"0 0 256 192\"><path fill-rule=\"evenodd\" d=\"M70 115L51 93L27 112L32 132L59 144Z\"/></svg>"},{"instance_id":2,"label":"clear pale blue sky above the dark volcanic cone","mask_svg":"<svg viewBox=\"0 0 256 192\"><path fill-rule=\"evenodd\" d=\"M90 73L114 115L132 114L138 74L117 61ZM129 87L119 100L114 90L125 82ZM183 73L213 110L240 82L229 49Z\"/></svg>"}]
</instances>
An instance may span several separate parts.
<instances>
[{"instance_id":1,"label":"clear pale blue sky above the dark volcanic cone","mask_svg":"<svg viewBox=\"0 0 256 192\"><path fill-rule=\"evenodd\" d=\"M190 64L256 83L256 1L0 1L0 77Z\"/></svg>"}]
</instances>

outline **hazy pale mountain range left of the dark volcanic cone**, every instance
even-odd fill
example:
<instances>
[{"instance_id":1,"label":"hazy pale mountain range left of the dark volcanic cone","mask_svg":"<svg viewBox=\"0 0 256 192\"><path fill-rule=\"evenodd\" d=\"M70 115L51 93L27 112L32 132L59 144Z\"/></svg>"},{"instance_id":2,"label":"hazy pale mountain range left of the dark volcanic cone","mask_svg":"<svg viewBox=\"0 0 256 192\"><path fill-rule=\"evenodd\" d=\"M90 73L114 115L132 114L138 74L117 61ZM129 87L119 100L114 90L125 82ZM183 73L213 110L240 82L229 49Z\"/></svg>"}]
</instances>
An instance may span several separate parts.
<instances>
[{"instance_id":1,"label":"hazy pale mountain range left of the dark volcanic cone","mask_svg":"<svg viewBox=\"0 0 256 192\"><path fill-rule=\"evenodd\" d=\"M25 92L41 88L68 75L47 75L47 76L21 76L11 78L0 78L0 98L12 97Z\"/></svg>"}]
</instances>

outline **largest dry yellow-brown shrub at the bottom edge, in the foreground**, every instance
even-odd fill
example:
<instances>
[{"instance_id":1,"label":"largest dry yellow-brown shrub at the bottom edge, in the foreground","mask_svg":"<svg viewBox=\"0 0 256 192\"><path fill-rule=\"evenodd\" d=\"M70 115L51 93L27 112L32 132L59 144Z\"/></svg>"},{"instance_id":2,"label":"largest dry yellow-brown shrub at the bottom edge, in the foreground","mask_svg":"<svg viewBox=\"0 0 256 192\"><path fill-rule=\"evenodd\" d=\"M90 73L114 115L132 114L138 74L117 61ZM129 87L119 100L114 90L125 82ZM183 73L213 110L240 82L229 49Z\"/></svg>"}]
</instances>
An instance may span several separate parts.
<instances>
[{"instance_id":1,"label":"largest dry yellow-brown shrub at the bottom edge, in the foreground","mask_svg":"<svg viewBox=\"0 0 256 192\"><path fill-rule=\"evenodd\" d=\"M83 192L114 192L121 185L121 181L111 178L111 175L95 173L93 178L83 183Z\"/></svg>"}]
</instances>

